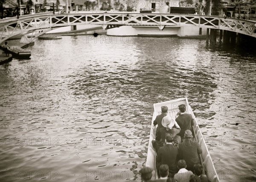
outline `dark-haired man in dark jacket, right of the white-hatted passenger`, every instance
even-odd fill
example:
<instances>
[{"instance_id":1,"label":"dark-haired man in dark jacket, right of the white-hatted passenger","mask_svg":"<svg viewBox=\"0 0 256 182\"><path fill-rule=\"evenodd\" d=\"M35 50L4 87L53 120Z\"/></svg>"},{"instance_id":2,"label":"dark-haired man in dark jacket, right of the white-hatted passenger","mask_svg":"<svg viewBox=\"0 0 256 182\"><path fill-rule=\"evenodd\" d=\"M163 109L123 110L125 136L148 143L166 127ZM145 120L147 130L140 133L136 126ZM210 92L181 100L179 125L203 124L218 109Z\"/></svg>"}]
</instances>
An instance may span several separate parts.
<instances>
[{"instance_id":1,"label":"dark-haired man in dark jacket, right of the white-hatted passenger","mask_svg":"<svg viewBox=\"0 0 256 182\"><path fill-rule=\"evenodd\" d=\"M191 114L186 113L186 105L179 105L180 114L175 119L178 125L180 126L180 133L178 134L182 139L186 130L191 130L194 126L194 121Z\"/></svg>"}]
</instances>

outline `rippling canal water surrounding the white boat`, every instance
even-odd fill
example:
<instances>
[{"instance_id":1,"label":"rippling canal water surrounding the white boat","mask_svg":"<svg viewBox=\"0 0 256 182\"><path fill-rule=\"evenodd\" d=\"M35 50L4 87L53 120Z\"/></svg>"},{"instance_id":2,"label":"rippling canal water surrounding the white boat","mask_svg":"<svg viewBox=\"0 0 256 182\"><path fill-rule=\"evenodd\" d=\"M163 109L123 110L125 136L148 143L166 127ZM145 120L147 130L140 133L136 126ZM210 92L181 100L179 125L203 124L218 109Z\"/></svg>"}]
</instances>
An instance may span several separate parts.
<instances>
[{"instance_id":1,"label":"rippling canal water surrounding the white boat","mask_svg":"<svg viewBox=\"0 0 256 182\"><path fill-rule=\"evenodd\" d=\"M255 54L104 35L26 50L0 66L1 181L140 181L153 104L180 97L220 180L256 180Z\"/></svg>"}]
</instances>

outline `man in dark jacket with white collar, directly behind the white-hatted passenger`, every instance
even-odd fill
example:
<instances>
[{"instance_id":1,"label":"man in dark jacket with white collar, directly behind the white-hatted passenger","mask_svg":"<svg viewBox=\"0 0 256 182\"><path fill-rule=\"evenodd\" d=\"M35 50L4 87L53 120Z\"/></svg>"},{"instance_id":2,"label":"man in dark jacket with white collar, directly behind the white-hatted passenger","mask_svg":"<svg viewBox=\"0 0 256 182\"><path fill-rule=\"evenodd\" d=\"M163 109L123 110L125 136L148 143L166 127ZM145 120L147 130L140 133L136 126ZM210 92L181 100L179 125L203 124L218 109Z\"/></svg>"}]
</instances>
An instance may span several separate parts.
<instances>
[{"instance_id":1,"label":"man in dark jacket with white collar, directly behind the white-hatted passenger","mask_svg":"<svg viewBox=\"0 0 256 182\"><path fill-rule=\"evenodd\" d=\"M174 145L172 134L167 133L165 137L166 145L160 147L157 152L157 169L160 169L162 164L167 164L169 167L169 177L173 177L177 173L177 159L179 148Z\"/></svg>"}]
</instances>

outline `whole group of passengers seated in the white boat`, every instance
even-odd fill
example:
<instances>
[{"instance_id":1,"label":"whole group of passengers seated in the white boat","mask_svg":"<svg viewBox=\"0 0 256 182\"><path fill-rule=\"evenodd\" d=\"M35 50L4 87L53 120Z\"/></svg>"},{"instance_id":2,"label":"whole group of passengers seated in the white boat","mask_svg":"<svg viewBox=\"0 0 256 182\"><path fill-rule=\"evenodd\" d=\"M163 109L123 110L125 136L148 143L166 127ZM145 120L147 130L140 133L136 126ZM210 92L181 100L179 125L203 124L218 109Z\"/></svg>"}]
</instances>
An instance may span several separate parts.
<instances>
[{"instance_id":1,"label":"whole group of passengers seated in the white boat","mask_svg":"<svg viewBox=\"0 0 256 182\"><path fill-rule=\"evenodd\" d=\"M152 145L157 152L157 173L160 174L158 175L160 179L156 181L207 182L207 177L202 175L204 170L198 156L202 153L202 149L192 135L194 126L192 115L186 113L184 104L179 105L176 119L167 113L168 107L162 106L161 114L153 122L155 126L157 125L157 131ZM140 171L142 178L144 181L150 181L149 178L143 177L143 173L146 170L148 175L144 176L149 177L153 170L145 168Z\"/></svg>"}]
</instances>

